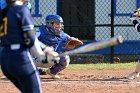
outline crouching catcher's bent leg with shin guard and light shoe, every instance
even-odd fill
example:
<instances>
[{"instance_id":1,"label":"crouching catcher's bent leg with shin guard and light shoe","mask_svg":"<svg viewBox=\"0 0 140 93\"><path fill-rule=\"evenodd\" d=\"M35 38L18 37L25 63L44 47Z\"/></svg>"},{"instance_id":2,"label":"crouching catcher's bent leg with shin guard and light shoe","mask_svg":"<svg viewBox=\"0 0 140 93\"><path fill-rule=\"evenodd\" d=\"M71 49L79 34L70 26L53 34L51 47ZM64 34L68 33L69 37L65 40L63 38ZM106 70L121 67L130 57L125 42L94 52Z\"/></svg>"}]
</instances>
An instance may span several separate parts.
<instances>
[{"instance_id":1,"label":"crouching catcher's bent leg with shin guard and light shoe","mask_svg":"<svg viewBox=\"0 0 140 93\"><path fill-rule=\"evenodd\" d=\"M55 64L51 68L47 70L47 74L52 76L54 79L59 79L60 77L58 76L58 73L62 70L64 70L66 67L68 67L70 63L70 58L69 56L61 57L59 64Z\"/></svg>"}]
</instances>

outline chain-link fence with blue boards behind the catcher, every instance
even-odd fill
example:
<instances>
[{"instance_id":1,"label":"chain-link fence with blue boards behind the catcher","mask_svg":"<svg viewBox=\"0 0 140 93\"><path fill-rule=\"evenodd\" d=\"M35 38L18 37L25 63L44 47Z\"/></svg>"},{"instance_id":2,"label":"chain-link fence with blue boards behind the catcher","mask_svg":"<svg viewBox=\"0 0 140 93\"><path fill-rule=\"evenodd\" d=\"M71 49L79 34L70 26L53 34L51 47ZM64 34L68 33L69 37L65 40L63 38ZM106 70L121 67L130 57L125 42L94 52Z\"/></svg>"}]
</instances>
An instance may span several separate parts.
<instances>
[{"instance_id":1,"label":"chain-link fence with blue boards behind the catcher","mask_svg":"<svg viewBox=\"0 0 140 93\"><path fill-rule=\"evenodd\" d=\"M64 19L65 32L85 43L122 35L124 43L115 47L71 56L72 63L132 62L140 58L140 33L129 16L140 0L31 0L36 28L47 14Z\"/></svg>"}]
</instances>

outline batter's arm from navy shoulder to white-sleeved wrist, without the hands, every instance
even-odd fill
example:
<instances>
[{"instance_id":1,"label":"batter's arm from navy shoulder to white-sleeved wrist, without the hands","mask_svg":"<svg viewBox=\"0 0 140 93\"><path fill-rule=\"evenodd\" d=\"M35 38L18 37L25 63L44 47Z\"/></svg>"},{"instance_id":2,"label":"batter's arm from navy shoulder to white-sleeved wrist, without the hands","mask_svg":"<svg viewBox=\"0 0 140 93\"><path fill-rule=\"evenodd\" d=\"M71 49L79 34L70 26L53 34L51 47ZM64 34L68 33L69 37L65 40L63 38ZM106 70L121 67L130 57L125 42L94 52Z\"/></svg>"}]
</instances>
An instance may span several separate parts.
<instances>
[{"instance_id":1,"label":"batter's arm from navy shoulder to white-sleeved wrist, without the hands","mask_svg":"<svg viewBox=\"0 0 140 93\"><path fill-rule=\"evenodd\" d=\"M42 51L38 39L35 37L34 24L29 9L26 6L22 7L18 17L22 22L23 37L26 47L30 49L33 56L39 61L45 60L45 54Z\"/></svg>"}]
</instances>

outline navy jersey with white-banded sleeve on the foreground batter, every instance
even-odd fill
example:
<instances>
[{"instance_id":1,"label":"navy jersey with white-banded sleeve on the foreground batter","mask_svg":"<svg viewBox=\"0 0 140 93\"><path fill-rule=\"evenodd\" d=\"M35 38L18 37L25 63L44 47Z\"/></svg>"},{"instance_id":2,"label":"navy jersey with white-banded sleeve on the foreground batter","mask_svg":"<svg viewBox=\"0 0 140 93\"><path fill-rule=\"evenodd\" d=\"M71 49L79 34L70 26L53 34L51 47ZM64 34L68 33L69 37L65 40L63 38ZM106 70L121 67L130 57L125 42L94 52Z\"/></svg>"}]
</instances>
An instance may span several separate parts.
<instances>
[{"instance_id":1,"label":"navy jersey with white-banded sleeve on the foreground batter","mask_svg":"<svg viewBox=\"0 0 140 93\"><path fill-rule=\"evenodd\" d=\"M33 30L34 27L31 19L30 11L26 6L14 5L11 7L4 18L7 28L0 32L1 44L3 46L24 44L23 31Z\"/></svg>"}]
</instances>

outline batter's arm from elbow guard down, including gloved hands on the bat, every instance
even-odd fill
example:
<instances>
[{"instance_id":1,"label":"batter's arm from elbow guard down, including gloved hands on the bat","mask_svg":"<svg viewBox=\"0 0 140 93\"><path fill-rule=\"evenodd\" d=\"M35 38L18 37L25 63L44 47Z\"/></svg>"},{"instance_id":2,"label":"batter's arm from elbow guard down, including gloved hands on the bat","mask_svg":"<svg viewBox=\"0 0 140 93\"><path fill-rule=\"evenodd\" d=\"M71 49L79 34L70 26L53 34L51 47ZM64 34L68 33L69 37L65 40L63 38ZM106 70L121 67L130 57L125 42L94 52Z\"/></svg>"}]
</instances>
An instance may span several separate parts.
<instances>
[{"instance_id":1,"label":"batter's arm from elbow guard down, including gloved hands on the bat","mask_svg":"<svg viewBox=\"0 0 140 93\"><path fill-rule=\"evenodd\" d=\"M58 53L54 52L52 48L45 46L44 50L42 50L40 46L43 43L35 37L33 30L24 31L24 40L32 56L37 58L37 66L51 67L59 62Z\"/></svg>"}]
</instances>

